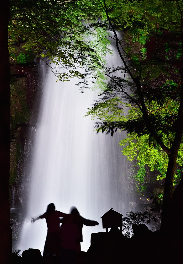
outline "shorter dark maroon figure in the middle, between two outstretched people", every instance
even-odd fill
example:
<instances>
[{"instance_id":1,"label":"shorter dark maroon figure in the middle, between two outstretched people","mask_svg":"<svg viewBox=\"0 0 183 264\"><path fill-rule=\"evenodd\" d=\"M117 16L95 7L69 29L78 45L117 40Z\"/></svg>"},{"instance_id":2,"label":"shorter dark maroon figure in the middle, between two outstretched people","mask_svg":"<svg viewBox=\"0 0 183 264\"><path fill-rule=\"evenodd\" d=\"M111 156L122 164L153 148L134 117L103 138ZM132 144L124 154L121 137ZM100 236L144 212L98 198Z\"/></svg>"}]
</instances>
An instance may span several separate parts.
<instances>
[{"instance_id":1,"label":"shorter dark maroon figure in the middle, between two outstretched people","mask_svg":"<svg viewBox=\"0 0 183 264\"><path fill-rule=\"evenodd\" d=\"M60 226L60 238L62 248L62 261L66 264L74 264L76 258L76 249L80 244L80 233L78 227L73 223L74 218L65 218Z\"/></svg>"}]
</instances>

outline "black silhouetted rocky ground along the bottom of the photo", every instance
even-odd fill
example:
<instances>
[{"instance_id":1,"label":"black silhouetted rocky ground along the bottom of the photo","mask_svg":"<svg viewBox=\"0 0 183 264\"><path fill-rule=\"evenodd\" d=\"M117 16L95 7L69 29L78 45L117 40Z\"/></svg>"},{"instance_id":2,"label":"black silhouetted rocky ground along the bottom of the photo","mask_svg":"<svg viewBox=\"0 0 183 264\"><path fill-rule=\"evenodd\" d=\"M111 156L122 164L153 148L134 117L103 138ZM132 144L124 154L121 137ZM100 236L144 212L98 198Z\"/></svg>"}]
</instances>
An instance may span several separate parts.
<instances>
[{"instance_id":1,"label":"black silhouetted rocky ground along the bottom of the photo","mask_svg":"<svg viewBox=\"0 0 183 264\"><path fill-rule=\"evenodd\" d=\"M141 227L142 228L142 227ZM142 228L143 229L143 228ZM148 229L149 230L149 229ZM183 261L183 240L177 235L163 234L148 230L136 232L132 238L106 232L91 234L91 246L87 252L81 251L76 256L75 264L162 264ZM42 257L24 254L12 256L11 264L62 264L61 256ZM69 264L69 263L66 263Z\"/></svg>"}]
</instances>

